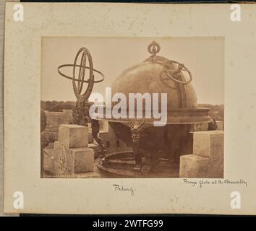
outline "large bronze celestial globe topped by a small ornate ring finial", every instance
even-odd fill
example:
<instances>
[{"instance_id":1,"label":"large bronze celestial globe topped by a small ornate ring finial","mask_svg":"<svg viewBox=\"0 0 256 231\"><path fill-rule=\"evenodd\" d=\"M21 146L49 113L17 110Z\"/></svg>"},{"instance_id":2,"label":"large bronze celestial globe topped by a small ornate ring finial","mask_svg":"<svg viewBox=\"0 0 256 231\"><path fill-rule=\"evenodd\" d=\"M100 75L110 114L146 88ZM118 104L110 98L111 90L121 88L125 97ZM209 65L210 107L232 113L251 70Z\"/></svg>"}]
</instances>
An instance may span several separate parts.
<instances>
[{"instance_id":1,"label":"large bronze celestial globe topped by a small ornate ring finial","mask_svg":"<svg viewBox=\"0 0 256 231\"><path fill-rule=\"evenodd\" d=\"M155 48L157 46L157 48ZM191 84L192 74L177 61L156 56L160 46L151 43L148 50L152 54L141 64L124 70L115 79L112 94L122 92L129 99L129 93L167 93L167 123L163 127L146 127L140 134L142 157L162 157L179 162L181 154L190 152L189 131L193 123L210 123L209 108L197 108L197 95ZM159 97L159 104L161 103ZM128 105L128 102L127 102ZM143 105L145 108L145 105ZM152 120L143 119L145 123ZM125 121L110 122L116 136L132 146L131 130Z\"/></svg>"}]
</instances>

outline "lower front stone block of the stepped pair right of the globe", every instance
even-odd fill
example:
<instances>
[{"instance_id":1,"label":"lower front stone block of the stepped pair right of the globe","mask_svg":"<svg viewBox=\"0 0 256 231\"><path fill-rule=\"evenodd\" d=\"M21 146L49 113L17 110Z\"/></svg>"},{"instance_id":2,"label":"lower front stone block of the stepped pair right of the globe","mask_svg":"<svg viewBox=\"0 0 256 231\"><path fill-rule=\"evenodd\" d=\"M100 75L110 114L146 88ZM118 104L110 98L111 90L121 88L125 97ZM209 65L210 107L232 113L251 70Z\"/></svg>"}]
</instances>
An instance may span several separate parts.
<instances>
[{"instance_id":1,"label":"lower front stone block of the stepped pair right of the globe","mask_svg":"<svg viewBox=\"0 0 256 231\"><path fill-rule=\"evenodd\" d=\"M180 157L180 178L208 178L210 159L195 154L186 154Z\"/></svg>"}]
</instances>

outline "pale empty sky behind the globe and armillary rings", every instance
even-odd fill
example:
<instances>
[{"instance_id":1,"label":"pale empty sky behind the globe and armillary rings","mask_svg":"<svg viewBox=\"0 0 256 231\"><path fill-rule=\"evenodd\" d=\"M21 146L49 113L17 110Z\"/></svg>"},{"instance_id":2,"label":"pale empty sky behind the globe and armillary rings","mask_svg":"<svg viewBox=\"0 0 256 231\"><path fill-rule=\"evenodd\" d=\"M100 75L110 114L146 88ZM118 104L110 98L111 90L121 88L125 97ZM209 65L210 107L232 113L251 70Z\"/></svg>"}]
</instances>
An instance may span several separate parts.
<instances>
[{"instance_id":1,"label":"pale empty sky behind the globe and armillary rings","mask_svg":"<svg viewBox=\"0 0 256 231\"><path fill-rule=\"evenodd\" d=\"M148 44L153 40L161 45L159 56L179 61L192 72L192 84L197 92L198 103L224 103L224 39L212 37L44 37L41 53L41 100L76 100L72 81L61 77L57 68L61 64L73 64L81 47L88 48L93 56L94 68L103 72L106 77L103 82L94 85L93 92L105 95L105 87L110 87L124 69L139 64L150 56ZM72 67L63 71L72 77ZM97 74L95 78L98 78Z\"/></svg>"}]
</instances>

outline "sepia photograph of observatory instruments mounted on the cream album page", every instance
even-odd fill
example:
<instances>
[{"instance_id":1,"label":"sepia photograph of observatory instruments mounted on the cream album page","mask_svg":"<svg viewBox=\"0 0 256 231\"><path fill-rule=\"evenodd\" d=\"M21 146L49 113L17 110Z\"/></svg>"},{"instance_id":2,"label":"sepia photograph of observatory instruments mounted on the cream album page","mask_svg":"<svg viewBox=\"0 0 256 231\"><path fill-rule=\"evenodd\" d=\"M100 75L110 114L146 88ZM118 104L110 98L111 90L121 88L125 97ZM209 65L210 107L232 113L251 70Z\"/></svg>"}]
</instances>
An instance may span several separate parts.
<instances>
[{"instance_id":1,"label":"sepia photograph of observatory instruments mounted on the cream album page","mask_svg":"<svg viewBox=\"0 0 256 231\"><path fill-rule=\"evenodd\" d=\"M41 49L41 178L223 178L224 38Z\"/></svg>"}]
</instances>

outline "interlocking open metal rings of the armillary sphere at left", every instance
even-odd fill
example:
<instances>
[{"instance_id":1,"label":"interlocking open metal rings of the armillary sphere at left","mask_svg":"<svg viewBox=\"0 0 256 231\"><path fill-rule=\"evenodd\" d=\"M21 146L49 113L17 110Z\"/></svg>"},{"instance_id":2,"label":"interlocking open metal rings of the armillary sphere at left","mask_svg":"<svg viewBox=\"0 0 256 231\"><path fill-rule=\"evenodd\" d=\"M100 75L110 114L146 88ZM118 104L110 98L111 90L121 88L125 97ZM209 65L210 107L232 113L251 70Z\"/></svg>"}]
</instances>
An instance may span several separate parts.
<instances>
[{"instance_id":1,"label":"interlocking open metal rings of the armillary sphere at left","mask_svg":"<svg viewBox=\"0 0 256 231\"><path fill-rule=\"evenodd\" d=\"M82 53L82 57L80 60L80 64L77 64L77 59L80 56L80 53ZM86 66L86 61L89 61L88 66ZM67 66L72 66L73 67L73 77L69 77L66 74L63 74L61 72L61 68L67 67ZM79 67L79 74L78 74L78 79L76 78L76 69ZM85 80L85 70L89 70L89 79ZM93 58L90 55L90 51L88 51L87 48L80 48L80 50L77 52L77 55L74 58L74 64L64 64L58 67L58 72L61 74L62 77L65 77L67 79L72 80L73 84L73 90L74 90L74 95L77 97L77 100L80 101L85 101L88 100L90 97L91 92L93 91L93 84L102 82L104 80L104 75L101 73L101 71L97 71L93 69ZM100 80L94 80L94 72L98 73L101 75ZM77 84L76 84L77 82ZM82 86L84 83L88 84L87 89L85 90L84 93L82 93Z\"/></svg>"}]
</instances>

